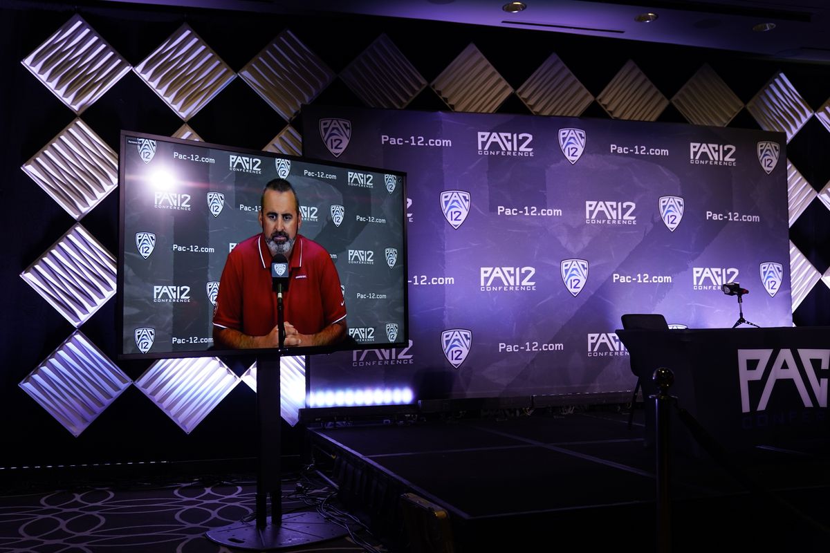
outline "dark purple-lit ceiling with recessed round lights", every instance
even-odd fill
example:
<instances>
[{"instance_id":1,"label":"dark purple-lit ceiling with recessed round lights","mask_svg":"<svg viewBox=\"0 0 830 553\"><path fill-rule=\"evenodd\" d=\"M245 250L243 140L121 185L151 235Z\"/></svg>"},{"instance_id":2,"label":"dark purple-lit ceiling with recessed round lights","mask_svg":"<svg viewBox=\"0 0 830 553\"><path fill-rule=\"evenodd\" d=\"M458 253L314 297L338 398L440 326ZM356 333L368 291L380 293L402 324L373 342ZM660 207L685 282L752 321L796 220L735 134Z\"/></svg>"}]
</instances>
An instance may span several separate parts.
<instances>
[{"instance_id":1,"label":"dark purple-lit ceiling with recessed round lights","mask_svg":"<svg viewBox=\"0 0 830 553\"><path fill-rule=\"evenodd\" d=\"M106 0L124 2L125 0ZM621 40L740 51L789 61L830 62L830 0L525 0L505 12L508 0L145 0L193 9L251 12L359 14L510 27ZM645 13L652 22L637 22ZM754 30L766 28L768 30ZM428 37L424 37L428 40Z\"/></svg>"}]
</instances>

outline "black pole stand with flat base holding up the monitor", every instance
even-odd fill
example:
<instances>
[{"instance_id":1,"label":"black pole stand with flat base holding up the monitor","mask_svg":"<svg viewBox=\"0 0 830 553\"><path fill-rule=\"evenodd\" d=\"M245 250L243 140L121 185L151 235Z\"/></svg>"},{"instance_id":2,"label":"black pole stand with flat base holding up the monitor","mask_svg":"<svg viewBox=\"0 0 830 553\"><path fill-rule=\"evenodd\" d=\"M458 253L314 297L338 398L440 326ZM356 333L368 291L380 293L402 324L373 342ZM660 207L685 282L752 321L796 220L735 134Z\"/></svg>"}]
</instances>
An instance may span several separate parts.
<instances>
[{"instance_id":1,"label":"black pole stand with flat base holding up the monitor","mask_svg":"<svg viewBox=\"0 0 830 553\"><path fill-rule=\"evenodd\" d=\"M211 541L237 549L270 551L334 539L348 532L316 511L282 514L280 353L256 359L256 410L259 468L256 473L256 523L239 521L207 531ZM271 516L268 516L268 499Z\"/></svg>"}]
</instances>

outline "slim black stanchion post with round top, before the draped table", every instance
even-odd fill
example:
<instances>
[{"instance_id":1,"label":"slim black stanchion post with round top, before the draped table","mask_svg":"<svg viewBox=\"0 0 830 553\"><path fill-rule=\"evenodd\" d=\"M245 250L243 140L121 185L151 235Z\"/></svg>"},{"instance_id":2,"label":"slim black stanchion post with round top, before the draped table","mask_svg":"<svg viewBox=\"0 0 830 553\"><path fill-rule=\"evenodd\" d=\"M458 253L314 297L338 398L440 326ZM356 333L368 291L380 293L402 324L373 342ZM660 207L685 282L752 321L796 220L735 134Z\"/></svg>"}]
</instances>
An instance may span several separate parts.
<instances>
[{"instance_id":1,"label":"slim black stanchion post with round top, before the draped table","mask_svg":"<svg viewBox=\"0 0 830 553\"><path fill-rule=\"evenodd\" d=\"M654 371L652 376L659 388L654 399L655 429L657 436L657 553L671 551L671 434L670 421L671 400L669 388L674 384L674 373L665 367Z\"/></svg>"}]
</instances>

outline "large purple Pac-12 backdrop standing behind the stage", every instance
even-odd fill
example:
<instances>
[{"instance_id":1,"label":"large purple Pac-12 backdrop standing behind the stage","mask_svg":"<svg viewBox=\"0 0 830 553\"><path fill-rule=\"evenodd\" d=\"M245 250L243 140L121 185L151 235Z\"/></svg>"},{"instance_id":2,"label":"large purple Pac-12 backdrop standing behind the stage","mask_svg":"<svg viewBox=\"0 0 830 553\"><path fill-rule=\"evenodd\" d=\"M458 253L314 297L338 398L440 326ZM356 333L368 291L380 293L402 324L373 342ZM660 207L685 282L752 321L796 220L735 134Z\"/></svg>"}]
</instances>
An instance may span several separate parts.
<instances>
[{"instance_id":1,"label":"large purple Pac-12 backdrop standing behind the stage","mask_svg":"<svg viewBox=\"0 0 830 553\"><path fill-rule=\"evenodd\" d=\"M410 345L312 357L312 390L618 392L636 382L623 313L732 327L742 307L792 326L785 145L749 129L305 106L306 156L409 185ZM749 290L742 306L728 282Z\"/></svg>"}]
</instances>

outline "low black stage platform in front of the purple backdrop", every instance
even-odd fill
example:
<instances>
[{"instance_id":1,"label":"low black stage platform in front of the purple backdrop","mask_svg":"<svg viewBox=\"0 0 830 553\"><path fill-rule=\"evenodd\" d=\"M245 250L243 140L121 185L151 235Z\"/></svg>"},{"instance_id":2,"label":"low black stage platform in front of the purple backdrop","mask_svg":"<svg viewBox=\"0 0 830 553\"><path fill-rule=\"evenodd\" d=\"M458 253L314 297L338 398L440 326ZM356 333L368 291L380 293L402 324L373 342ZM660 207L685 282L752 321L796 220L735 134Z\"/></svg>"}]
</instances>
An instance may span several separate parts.
<instances>
[{"instance_id":1,"label":"low black stage platform in front of the purple backdrop","mask_svg":"<svg viewBox=\"0 0 830 553\"><path fill-rule=\"evenodd\" d=\"M673 452L658 529L656 449L642 409L628 418L571 405L330 420L307 424L305 448L393 551L668 551L658 536L676 552L830 551L826 436Z\"/></svg>"}]
</instances>

